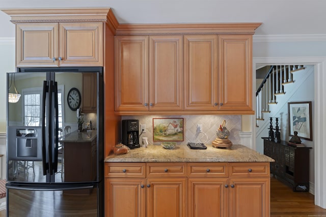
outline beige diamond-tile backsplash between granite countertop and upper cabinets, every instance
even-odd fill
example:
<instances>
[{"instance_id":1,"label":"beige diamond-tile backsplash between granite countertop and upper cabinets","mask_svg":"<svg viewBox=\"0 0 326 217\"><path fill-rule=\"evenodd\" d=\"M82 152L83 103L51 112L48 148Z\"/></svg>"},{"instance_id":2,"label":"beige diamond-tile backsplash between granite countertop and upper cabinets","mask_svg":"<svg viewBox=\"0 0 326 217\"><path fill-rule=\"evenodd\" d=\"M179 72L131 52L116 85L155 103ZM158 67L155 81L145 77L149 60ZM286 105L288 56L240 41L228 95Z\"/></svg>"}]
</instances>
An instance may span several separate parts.
<instances>
[{"instance_id":1,"label":"beige diamond-tile backsplash between granite countertop and upper cabinets","mask_svg":"<svg viewBox=\"0 0 326 217\"><path fill-rule=\"evenodd\" d=\"M233 144L240 144L239 131L241 131L241 115L140 115L140 116L122 116L122 119L138 119L139 124L146 125L146 133L140 136L148 137L150 144L153 143L153 118L183 118L183 142L177 144L187 144L187 142L203 142L211 144L216 138L216 130L222 125L223 120L226 120L226 127L230 131L229 139ZM197 132L197 124L203 125L203 133ZM206 137L207 135L207 137Z\"/></svg>"}]
</instances>

